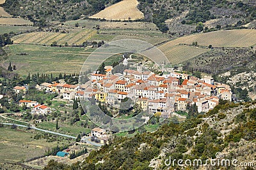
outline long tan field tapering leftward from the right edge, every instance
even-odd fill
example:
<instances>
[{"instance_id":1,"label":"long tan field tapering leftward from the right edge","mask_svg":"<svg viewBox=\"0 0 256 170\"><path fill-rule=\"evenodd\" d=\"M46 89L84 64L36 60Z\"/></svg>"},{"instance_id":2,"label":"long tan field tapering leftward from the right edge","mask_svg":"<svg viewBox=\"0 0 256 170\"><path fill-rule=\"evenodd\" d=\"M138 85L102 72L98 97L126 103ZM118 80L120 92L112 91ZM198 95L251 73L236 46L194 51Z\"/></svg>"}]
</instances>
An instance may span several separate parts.
<instances>
[{"instance_id":1,"label":"long tan field tapering leftward from the right edge","mask_svg":"<svg viewBox=\"0 0 256 170\"><path fill-rule=\"evenodd\" d=\"M198 45L202 46L250 47L256 44L256 30L228 30L184 36L165 43L161 48L168 48L179 44L191 45L193 42L197 42Z\"/></svg>"}]
</instances>

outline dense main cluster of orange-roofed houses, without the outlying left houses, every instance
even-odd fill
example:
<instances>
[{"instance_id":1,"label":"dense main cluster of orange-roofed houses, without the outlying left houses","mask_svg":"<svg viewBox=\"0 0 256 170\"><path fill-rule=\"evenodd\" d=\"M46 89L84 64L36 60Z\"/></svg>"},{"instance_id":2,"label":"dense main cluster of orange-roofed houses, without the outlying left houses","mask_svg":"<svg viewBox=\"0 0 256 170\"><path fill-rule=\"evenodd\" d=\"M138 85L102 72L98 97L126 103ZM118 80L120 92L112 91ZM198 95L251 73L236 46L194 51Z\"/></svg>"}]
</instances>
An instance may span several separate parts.
<instances>
[{"instance_id":1,"label":"dense main cluster of orange-roofed houses, without the outlying left houses","mask_svg":"<svg viewBox=\"0 0 256 170\"><path fill-rule=\"evenodd\" d=\"M125 69L123 74L111 74L111 71L93 73L90 88L84 91L84 97L92 96L110 105L129 97L143 110L160 112L168 117L173 111L186 111L188 105L196 104L198 112L206 112L214 108L220 99L232 101L230 87L214 82L210 76L196 78L174 71L159 76L142 71L140 65L136 70Z\"/></svg>"}]
</instances>

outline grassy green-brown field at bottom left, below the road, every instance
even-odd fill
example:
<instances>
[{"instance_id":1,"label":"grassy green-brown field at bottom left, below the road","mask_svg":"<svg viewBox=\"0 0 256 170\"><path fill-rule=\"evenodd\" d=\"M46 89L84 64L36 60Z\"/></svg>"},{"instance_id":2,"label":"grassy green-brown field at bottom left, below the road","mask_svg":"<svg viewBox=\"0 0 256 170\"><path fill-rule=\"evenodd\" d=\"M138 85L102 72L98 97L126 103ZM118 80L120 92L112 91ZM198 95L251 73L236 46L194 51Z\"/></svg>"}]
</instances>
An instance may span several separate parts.
<instances>
[{"instance_id":1,"label":"grassy green-brown field at bottom left, below the road","mask_svg":"<svg viewBox=\"0 0 256 170\"><path fill-rule=\"evenodd\" d=\"M34 134L24 128L0 129L0 162L19 162L38 157L44 155L45 150L58 145L56 141L47 143L46 139L33 139Z\"/></svg>"}]
</instances>

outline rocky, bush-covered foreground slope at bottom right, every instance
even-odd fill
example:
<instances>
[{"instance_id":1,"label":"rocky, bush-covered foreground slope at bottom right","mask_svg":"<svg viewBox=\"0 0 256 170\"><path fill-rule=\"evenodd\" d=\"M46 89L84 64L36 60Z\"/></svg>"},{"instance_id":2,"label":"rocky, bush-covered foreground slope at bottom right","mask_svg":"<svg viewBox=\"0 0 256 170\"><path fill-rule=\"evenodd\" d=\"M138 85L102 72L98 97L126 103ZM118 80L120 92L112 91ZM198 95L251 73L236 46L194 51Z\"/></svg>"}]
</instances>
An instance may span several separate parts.
<instances>
[{"instance_id":1,"label":"rocky, bush-covered foreground slope at bottom right","mask_svg":"<svg viewBox=\"0 0 256 170\"><path fill-rule=\"evenodd\" d=\"M177 160L206 160L216 158L217 152L225 153L225 159L255 162L255 132L255 101L221 101L205 115L180 124L173 119L153 133L116 137L109 145L91 152L83 163L67 166L51 160L45 169L166 169L164 161L169 156Z\"/></svg>"}]
</instances>

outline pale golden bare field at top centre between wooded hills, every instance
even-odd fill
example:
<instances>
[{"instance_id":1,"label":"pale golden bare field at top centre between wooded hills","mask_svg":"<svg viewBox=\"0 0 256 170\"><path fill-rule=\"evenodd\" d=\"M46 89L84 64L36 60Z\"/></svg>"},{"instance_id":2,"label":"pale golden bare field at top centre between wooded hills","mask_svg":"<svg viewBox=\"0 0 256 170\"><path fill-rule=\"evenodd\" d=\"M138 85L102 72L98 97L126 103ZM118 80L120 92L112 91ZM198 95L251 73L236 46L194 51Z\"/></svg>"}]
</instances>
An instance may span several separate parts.
<instances>
[{"instance_id":1,"label":"pale golden bare field at top centre between wooded hills","mask_svg":"<svg viewBox=\"0 0 256 170\"><path fill-rule=\"evenodd\" d=\"M124 0L113 4L89 18L105 18L106 20L136 20L144 18L137 8L137 0Z\"/></svg>"}]
</instances>

